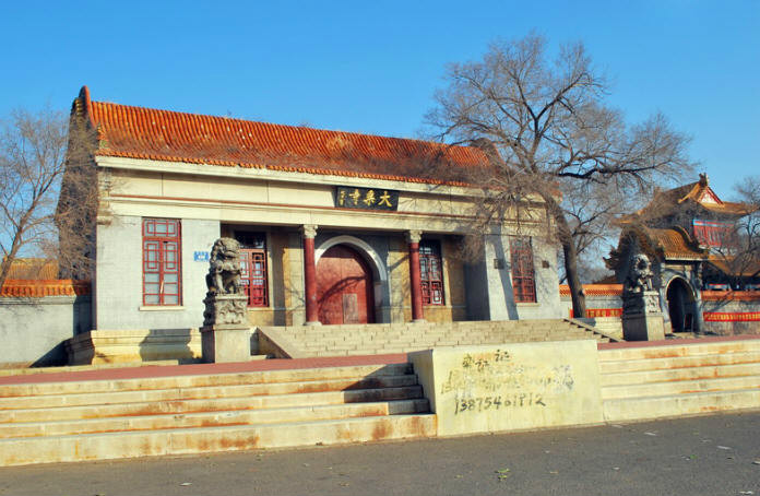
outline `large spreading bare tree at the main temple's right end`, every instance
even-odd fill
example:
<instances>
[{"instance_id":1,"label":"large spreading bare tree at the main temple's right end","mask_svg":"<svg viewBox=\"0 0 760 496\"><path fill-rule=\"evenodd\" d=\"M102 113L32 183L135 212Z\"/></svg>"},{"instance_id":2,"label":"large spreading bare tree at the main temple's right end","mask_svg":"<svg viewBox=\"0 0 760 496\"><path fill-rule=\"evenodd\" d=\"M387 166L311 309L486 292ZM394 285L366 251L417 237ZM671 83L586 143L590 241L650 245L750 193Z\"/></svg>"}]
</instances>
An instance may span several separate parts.
<instances>
[{"instance_id":1,"label":"large spreading bare tree at the main temple's right end","mask_svg":"<svg viewBox=\"0 0 760 496\"><path fill-rule=\"evenodd\" d=\"M589 228L573 221L561 192L577 194L583 185L617 191L615 199L649 191L653 181L691 169L688 139L660 114L628 126L606 104L607 82L580 43L562 46L555 60L541 36L495 43L483 60L451 64L447 81L426 117L431 134L490 147L490 165L470 168L467 178L486 194L479 205L486 222L524 210L531 199L543 202L547 225L562 248L573 311L585 315L573 234L579 236L575 227L585 234ZM586 217L609 208L599 199Z\"/></svg>"}]
</instances>

